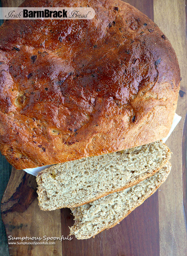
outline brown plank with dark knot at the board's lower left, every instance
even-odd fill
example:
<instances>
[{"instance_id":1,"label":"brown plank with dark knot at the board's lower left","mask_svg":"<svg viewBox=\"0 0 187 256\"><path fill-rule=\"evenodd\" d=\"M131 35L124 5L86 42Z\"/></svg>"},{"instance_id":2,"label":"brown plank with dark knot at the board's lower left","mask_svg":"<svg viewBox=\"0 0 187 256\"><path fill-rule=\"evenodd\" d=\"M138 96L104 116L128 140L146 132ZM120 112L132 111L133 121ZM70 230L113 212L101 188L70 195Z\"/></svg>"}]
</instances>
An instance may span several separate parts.
<instances>
[{"instance_id":1,"label":"brown plank with dark knot at the board's lower left","mask_svg":"<svg viewBox=\"0 0 187 256\"><path fill-rule=\"evenodd\" d=\"M7 237L43 237L45 235L61 237L60 210L54 212L40 210L36 185L34 176L22 170L12 169L1 204ZM29 240L29 242L32 241ZM59 240L55 241L55 245L9 245L10 256L60 256L61 252Z\"/></svg>"}]
</instances>

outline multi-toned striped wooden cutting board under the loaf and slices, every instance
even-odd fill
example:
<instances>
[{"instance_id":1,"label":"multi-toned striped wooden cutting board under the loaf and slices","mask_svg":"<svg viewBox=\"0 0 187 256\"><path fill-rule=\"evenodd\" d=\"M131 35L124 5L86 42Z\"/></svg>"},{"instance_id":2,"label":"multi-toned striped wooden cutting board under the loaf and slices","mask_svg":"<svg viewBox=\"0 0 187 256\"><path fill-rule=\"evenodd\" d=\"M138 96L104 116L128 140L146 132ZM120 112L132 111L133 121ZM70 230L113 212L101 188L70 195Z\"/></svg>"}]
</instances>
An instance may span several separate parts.
<instances>
[{"instance_id":1,"label":"multi-toned striped wooden cutting board under the loaf and slices","mask_svg":"<svg viewBox=\"0 0 187 256\"><path fill-rule=\"evenodd\" d=\"M22 2L22 1L21 1ZM2 0L3 7L18 0ZM182 120L167 140L173 152L172 170L159 190L119 225L88 240L54 241L48 245L9 245L14 256L185 256L187 255L187 40L184 0L126 1L160 27L173 45L181 69L177 114ZM185 121L185 122L184 122ZM35 177L12 169L1 212L7 237L67 237L74 223L69 209L39 209ZM187 215L186 215L187 216Z\"/></svg>"}]
</instances>

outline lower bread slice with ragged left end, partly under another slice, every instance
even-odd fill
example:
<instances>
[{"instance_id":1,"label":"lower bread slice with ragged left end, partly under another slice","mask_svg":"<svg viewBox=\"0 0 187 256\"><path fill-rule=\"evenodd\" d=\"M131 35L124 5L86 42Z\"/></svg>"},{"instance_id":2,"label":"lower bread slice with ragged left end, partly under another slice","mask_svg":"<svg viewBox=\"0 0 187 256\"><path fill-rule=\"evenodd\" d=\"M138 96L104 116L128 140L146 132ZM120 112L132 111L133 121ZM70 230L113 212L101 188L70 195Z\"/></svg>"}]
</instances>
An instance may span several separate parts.
<instances>
[{"instance_id":1,"label":"lower bread slice with ragged left end, partly under another slice","mask_svg":"<svg viewBox=\"0 0 187 256\"><path fill-rule=\"evenodd\" d=\"M112 228L151 196L166 180L170 170L168 162L160 171L137 185L71 209L75 224L70 227L70 235L88 239Z\"/></svg>"}]
</instances>

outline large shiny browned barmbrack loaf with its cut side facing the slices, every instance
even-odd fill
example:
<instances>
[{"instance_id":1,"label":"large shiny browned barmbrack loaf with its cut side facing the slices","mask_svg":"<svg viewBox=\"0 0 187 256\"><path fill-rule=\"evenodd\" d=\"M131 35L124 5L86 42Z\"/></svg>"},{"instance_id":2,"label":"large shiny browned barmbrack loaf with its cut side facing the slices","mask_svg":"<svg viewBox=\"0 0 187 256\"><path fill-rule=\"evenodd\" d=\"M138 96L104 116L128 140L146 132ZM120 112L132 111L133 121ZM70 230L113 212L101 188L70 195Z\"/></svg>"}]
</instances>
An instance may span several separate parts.
<instances>
[{"instance_id":1,"label":"large shiny browned barmbrack loaf with its cut side facing the slices","mask_svg":"<svg viewBox=\"0 0 187 256\"><path fill-rule=\"evenodd\" d=\"M164 138L180 71L167 37L122 1L26 1L92 7L92 20L9 20L0 27L0 150L17 169Z\"/></svg>"}]
</instances>

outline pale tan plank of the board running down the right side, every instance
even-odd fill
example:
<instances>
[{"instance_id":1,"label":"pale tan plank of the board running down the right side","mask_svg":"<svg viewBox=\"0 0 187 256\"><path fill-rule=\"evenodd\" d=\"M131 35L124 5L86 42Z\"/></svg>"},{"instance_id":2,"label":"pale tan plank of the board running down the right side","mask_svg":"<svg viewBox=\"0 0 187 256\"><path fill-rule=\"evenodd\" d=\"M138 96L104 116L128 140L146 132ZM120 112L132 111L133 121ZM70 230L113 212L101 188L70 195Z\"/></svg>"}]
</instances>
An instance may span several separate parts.
<instances>
[{"instance_id":1,"label":"pale tan plank of the board running down the right side","mask_svg":"<svg viewBox=\"0 0 187 256\"><path fill-rule=\"evenodd\" d=\"M185 1L154 0L154 21L176 51L180 70L180 90L187 92L187 41ZM187 110L187 93L179 96L177 114L182 120L167 140L173 152L172 171L159 193L160 256L187 255L187 236L182 190L182 131ZM185 152L184 152L185 153Z\"/></svg>"}]
</instances>

